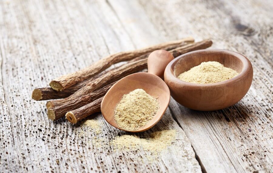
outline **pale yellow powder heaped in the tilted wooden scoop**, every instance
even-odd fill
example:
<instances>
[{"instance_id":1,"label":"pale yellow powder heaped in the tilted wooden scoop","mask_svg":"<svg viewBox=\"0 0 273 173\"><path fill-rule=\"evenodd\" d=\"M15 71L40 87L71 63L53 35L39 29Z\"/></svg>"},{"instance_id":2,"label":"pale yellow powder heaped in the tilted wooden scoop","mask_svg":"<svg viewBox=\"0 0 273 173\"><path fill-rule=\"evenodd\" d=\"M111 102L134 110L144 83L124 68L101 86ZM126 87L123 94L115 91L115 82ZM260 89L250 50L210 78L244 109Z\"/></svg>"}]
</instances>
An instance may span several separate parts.
<instances>
[{"instance_id":1,"label":"pale yellow powder heaped in the tilted wooden scoop","mask_svg":"<svg viewBox=\"0 0 273 173\"><path fill-rule=\"evenodd\" d=\"M135 89L123 95L116 105L115 121L125 130L138 130L144 127L159 109L159 102L143 89Z\"/></svg>"}]
</instances>

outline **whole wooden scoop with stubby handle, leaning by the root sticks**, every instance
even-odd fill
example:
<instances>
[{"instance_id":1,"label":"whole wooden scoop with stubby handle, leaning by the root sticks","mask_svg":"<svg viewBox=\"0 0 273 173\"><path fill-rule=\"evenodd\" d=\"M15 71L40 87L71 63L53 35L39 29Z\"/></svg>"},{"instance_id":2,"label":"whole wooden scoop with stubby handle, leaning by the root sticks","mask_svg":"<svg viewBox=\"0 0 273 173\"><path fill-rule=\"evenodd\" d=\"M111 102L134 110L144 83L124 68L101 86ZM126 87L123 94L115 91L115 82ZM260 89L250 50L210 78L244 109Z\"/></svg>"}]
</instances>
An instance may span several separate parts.
<instances>
[{"instance_id":1,"label":"whole wooden scoop with stubby handle, leaning by the root sticks","mask_svg":"<svg viewBox=\"0 0 273 173\"><path fill-rule=\"evenodd\" d=\"M170 102L170 90L160 77L163 78L164 70L172 59L174 59L174 56L168 51L153 51L148 57L148 73L134 73L120 79L120 81L114 84L106 93L101 103L101 112L105 120L113 127L128 132L142 132L153 127L162 118ZM130 131L122 129L117 125L114 119L114 111L123 95L135 89L143 89L153 98L157 98L160 108L146 126L139 130Z\"/></svg>"}]
</instances>

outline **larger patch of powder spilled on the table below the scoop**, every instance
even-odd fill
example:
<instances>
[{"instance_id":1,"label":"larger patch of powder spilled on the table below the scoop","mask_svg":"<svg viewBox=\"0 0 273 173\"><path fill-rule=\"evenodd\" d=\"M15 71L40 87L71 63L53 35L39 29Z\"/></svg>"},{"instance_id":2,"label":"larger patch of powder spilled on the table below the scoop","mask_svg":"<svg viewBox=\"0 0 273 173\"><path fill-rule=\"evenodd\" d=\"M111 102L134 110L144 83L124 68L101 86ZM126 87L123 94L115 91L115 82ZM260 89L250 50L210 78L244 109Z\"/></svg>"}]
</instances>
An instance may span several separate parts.
<instances>
[{"instance_id":1,"label":"larger patch of powder spilled on the table below the scoop","mask_svg":"<svg viewBox=\"0 0 273 173\"><path fill-rule=\"evenodd\" d=\"M163 130L151 133L148 139L131 135L116 136L111 144L116 150L132 150L142 147L145 151L157 153L170 146L175 139L176 130Z\"/></svg>"}]
</instances>

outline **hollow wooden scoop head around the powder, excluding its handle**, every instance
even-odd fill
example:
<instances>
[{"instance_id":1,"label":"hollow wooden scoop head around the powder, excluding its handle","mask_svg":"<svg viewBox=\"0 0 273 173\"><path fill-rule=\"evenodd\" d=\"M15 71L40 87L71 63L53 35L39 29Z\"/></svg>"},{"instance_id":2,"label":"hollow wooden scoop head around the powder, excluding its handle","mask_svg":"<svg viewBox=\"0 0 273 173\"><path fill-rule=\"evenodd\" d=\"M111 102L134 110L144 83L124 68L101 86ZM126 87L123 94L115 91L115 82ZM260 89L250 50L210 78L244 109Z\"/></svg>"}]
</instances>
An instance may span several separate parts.
<instances>
[{"instance_id":1,"label":"hollow wooden scoop head around the powder, excluding its handle","mask_svg":"<svg viewBox=\"0 0 273 173\"><path fill-rule=\"evenodd\" d=\"M170 90L166 83L160 77L150 73L134 73L120 79L120 81L109 89L103 98L101 112L105 120L112 126L119 128L114 119L116 105L120 102L123 95L128 94L135 89L143 89L153 98L157 98L160 108L154 118L146 126L134 132L148 130L163 116L170 102Z\"/></svg>"}]
</instances>

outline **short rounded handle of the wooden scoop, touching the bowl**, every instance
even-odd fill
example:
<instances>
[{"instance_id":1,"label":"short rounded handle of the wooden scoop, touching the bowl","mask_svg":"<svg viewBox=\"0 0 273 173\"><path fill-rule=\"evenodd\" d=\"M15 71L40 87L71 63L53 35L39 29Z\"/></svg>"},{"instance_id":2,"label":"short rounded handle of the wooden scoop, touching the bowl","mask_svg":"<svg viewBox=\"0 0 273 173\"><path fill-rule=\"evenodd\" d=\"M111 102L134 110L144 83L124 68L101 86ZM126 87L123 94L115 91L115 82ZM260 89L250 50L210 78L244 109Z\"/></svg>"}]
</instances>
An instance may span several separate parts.
<instances>
[{"instance_id":1,"label":"short rounded handle of the wooden scoop, touching the bowl","mask_svg":"<svg viewBox=\"0 0 273 173\"><path fill-rule=\"evenodd\" d=\"M174 59L174 56L166 50L155 50L148 57L148 73L164 77L166 66Z\"/></svg>"}]
</instances>

